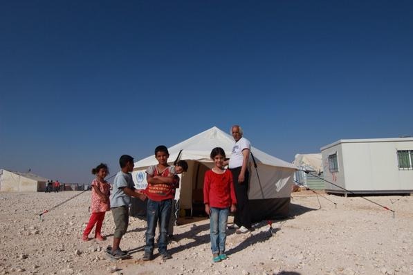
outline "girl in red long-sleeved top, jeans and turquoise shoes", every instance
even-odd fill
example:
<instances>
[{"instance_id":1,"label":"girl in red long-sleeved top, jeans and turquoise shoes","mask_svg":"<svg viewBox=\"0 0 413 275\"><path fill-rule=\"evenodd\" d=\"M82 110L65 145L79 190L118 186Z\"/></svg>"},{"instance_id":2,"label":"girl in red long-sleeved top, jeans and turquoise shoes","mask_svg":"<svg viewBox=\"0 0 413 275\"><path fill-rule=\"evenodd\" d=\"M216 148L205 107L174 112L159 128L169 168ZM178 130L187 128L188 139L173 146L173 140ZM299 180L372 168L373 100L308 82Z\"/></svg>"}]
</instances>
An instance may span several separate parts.
<instances>
[{"instance_id":1,"label":"girl in red long-sleeved top, jeans and turquoise shoes","mask_svg":"<svg viewBox=\"0 0 413 275\"><path fill-rule=\"evenodd\" d=\"M205 212L210 216L212 261L218 263L227 258L225 254L226 227L230 211L237 210L237 198L232 173L223 164L226 155L221 147L210 154L214 167L206 171L203 181Z\"/></svg>"}]
</instances>

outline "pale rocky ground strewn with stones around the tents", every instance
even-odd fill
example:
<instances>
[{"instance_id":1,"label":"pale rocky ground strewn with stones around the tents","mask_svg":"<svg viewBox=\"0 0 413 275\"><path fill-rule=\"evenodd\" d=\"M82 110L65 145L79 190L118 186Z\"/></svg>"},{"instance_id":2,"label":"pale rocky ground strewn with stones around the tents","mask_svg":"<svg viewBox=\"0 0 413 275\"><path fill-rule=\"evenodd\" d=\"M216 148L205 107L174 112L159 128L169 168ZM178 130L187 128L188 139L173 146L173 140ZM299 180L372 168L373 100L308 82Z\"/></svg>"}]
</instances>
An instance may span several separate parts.
<instances>
[{"instance_id":1,"label":"pale rocky ground strewn with stones around the tents","mask_svg":"<svg viewBox=\"0 0 413 275\"><path fill-rule=\"evenodd\" d=\"M121 247L132 258L112 261L104 254L110 212L107 240L80 239L89 191L0 193L0 274L413 274L413 196L366 198L394 215L360 197L293 193L291 218L274 220L273 235L266 222L249 234L228 231L229 258L214 264L208 220L175 228L171 260L143 262L145 222L131 218Z\"/></svg>"}]
</instances>

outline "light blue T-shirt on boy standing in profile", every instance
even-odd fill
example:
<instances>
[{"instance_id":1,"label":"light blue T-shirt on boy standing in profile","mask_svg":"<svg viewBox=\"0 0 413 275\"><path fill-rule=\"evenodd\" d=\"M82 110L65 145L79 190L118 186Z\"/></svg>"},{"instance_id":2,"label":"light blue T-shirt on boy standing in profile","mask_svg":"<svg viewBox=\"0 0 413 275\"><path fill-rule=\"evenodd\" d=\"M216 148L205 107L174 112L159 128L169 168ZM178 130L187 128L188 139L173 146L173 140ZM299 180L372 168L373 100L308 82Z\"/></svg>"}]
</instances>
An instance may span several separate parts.
<instances>
[{"instance_id":1,"label":"light blue T-shirt on boy standing in profile","mask_svg":"<svg viewBox=\"0 0 413 275\"><path fill-rule=\"evenodd\" d=\"M111 194L111 208L131 205L131 197L125 194L123 189L129 187L134 190L134 180L130 173L119 171L113 180L113 190Z\"/></svg>"}]
</instances>

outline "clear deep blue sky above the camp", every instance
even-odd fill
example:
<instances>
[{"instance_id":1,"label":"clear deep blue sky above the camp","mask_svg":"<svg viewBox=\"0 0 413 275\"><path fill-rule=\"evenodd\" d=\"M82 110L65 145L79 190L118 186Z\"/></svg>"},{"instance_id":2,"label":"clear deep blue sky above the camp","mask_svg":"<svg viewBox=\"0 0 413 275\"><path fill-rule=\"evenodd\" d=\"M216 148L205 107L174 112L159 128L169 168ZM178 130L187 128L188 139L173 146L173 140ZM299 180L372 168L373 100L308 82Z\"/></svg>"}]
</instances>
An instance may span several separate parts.
<instances>
[{"instance_id":1,"label":"clear deep blue sky above the camp","mask_svg":"<svg viewBox=\"0 0 413 275\"><path fill-rule=\"evenodd\" d=\"M89 183L217 126L291 162L413 135L412 1L2 1L0 168Z\"/></svg>"}]
</instances>

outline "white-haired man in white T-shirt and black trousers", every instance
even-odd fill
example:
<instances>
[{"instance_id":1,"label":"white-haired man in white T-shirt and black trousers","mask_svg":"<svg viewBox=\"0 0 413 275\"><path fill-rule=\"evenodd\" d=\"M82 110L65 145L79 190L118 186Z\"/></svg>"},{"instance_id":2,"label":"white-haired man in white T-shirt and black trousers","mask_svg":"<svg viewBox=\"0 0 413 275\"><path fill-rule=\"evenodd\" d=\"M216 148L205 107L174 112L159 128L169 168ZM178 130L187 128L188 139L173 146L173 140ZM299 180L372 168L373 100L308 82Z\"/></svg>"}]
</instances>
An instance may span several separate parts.
<instances>
[{"instance_id":1,"label":"white-haired man in white T-shirt and black trousers","mask_svg":"<svg viewBox=\"0 0 413 275\"><path fill-rule=\"evenodd\" d=\"M228 164L228 168L232 172L238 204L234 225L228 227L228 229L237 229L237 234L243 234L251 230L250 203L248 201L248 184L250 180L248 159L250 157L251 144L246 138L242 137L243 131L239 125L232 126L231 134L235 144L232 147L230 160L227 160L224 164Z\"/></svg>"}]
</instances>

